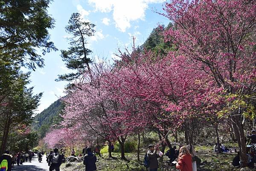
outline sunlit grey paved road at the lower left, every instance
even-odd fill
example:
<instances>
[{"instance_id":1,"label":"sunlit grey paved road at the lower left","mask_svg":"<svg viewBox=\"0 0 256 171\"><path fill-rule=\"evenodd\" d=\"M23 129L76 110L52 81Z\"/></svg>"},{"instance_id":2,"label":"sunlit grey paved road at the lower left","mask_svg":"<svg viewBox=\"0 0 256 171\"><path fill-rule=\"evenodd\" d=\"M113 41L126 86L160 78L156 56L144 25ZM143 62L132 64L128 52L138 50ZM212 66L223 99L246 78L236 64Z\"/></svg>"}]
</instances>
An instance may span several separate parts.
<instances>
[{"instance_id":1,"label":"sunlit grey paved road at the lower left","mask_svg":"<svg viewBox=\"0 0 256 171\"><path fill-rule=\"evenodd\" d=\"M43 160L38 162L38 158L35 156L32 158L32 162L23 162L23 165L14 165L12 171L49 171L49 166L46 162L44 155Z\"/></svg>"}]
</instances>

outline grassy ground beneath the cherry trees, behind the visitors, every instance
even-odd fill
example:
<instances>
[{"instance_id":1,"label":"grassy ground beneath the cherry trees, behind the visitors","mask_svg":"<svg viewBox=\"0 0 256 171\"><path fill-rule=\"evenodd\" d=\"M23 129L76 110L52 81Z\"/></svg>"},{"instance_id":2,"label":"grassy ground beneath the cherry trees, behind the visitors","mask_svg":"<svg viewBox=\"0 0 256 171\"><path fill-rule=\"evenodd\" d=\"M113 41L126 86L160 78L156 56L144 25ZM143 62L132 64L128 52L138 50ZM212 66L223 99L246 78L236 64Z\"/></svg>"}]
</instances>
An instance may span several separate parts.
<instances>
[{"instance_id":1,"label":"grassy ground beneath the cherry trees, behind the visitors","mask_svg":"<svg viewBox=\"0 0 256 171\"><path fill-rule=\"evenodd\" d=\"M198 157L204 162L198 168L198 171L238 171L239 169L230 166L233 158L236 154L216 154L212 152L212 147L197 146L196 151L198 152ZM103 157L97 156L97 171L145 171L143 166L144 154L140 154L140 162L137 161L137 154L127 153L126 158L130 162L126 162L120 159L119 153L113 153L113 157L116 159L108 158L108 154L103 154ZM168 158L163 157L163 162L159 162L160 168L158 171L176 171L175 167L169 164ZM84 171L84 165L82 162L76 164L75 167L64 167L64 171Z\"/></svg>"}]
</instances>

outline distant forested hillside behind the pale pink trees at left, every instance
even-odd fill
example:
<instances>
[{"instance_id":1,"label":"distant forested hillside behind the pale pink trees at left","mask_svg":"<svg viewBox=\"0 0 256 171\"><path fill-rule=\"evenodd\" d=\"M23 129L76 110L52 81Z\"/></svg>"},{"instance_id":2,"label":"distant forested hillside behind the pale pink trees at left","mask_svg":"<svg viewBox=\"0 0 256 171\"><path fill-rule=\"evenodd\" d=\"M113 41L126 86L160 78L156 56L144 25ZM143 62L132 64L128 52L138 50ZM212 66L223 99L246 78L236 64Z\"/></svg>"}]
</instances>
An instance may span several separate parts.
<instances>
[{"instance_id":1,"label":"distant forested hillside behind the pale pink trees at left","mask_svg":"<svg viewBox=\"0 0 256 171\"><path fill-rule=\"evenodd\" d=\"M45 136L52 125L58 124L61 121L61 117L58 114L62 108L61 100L58 99L47 107L47 109L35 116L32 127L38 131L41 138Z\"/></svg>"}]
</instances>

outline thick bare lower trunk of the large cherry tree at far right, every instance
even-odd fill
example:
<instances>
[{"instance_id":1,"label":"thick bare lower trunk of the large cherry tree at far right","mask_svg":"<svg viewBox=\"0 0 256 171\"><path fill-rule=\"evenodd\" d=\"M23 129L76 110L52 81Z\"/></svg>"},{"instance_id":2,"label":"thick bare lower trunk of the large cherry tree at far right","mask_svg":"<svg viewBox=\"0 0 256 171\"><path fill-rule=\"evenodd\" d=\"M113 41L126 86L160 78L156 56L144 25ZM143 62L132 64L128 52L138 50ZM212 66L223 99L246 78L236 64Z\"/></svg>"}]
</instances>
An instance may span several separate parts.
<instances>
[{"instance_id":1,"label":"thick bare lower trunk of the large cherry tree at far right","mask_svg":"<svg viewBox=\"0 0 256 171\"><path fill-rule=\"evenodd\" d=\"M246 167L247 166L247 156L246 156L246 144L245 144L245 137L244 137L244 129L240 123L239 116L237 116L237 115L231 116L231 123L232 123L232 128L234 130L236 140L239 145L241 167Z\"/></svg>"}]
</instances>

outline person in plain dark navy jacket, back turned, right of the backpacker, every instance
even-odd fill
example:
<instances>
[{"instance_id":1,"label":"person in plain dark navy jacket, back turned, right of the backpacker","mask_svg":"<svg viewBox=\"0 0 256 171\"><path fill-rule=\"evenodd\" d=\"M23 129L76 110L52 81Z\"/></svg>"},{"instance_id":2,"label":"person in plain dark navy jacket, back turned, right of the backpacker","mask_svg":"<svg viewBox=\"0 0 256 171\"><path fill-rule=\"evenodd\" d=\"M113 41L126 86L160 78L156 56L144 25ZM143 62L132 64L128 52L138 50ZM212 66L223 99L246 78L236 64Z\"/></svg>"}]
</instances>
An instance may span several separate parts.
<instances>
[{"instance_id":1,"label":"person in plain dark navy jacket, back turned, right of the backpacker","mask_svg":"<svg viewBox=\"0 0 256 171\"><path fill-rule=\"evenodd\" d=\"M84 156L85 171L96 171L96 156L92 153L90 147L86 148L87 154Z\"/></svg>"}]
</instances>

